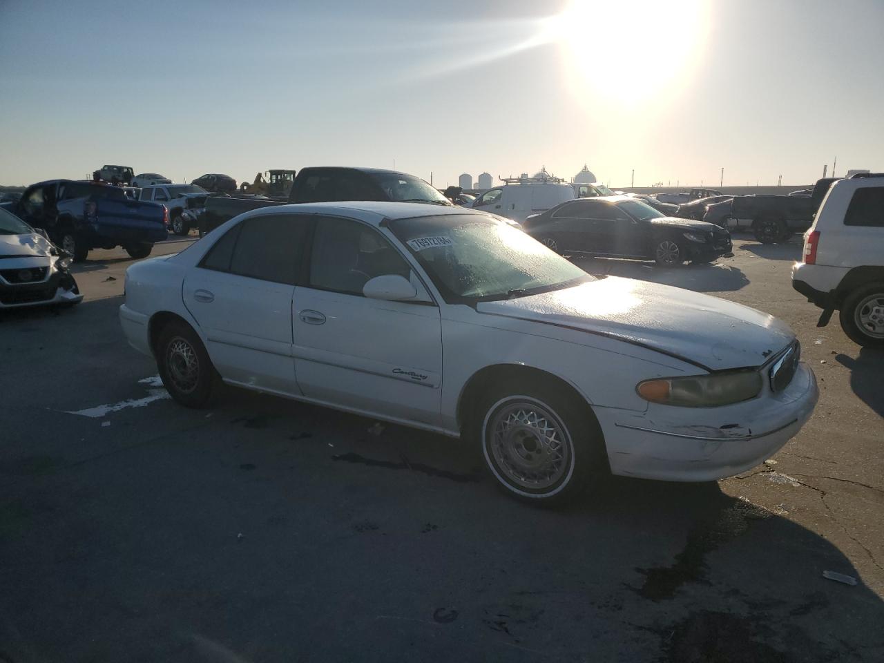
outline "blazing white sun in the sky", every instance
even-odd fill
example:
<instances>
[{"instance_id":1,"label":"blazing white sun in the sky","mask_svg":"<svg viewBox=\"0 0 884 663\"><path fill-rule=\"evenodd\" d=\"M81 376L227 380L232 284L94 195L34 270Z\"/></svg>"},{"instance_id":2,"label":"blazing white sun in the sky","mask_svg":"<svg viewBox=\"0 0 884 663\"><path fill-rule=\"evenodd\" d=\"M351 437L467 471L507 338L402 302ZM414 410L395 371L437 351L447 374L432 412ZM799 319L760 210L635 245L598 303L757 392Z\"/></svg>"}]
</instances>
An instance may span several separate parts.
<instances>
[{"instance_id":1,"label":"blazing white sun in the sky","mask_svg":"<svg viewBox=\"0 0 884 663\"><path fill-rule=\"evenodd\" d=\"M690 78L708 27L702 0L572 0L543 29L572 87L639 101Z\"/></svg>"}]
</instances>

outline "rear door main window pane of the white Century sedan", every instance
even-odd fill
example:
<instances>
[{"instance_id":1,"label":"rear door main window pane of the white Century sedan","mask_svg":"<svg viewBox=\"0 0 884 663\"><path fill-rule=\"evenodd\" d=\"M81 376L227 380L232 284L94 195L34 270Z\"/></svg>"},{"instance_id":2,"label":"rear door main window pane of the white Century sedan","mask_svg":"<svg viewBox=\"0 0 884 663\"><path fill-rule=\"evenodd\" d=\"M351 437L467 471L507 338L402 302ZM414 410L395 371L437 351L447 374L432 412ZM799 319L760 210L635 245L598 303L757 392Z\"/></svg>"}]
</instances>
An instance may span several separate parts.
<instances>
[{"instance_id":1,"label":"rear door main window pane of the white Century sedan","mask_svg":"<svg viewBox=\"0 0 884 663\"><path fill-rule=\"evenodd\" d=\"M307 236L303 217L274 214L243 221L233 248L232 274L295 284Z\"/></svg>"}]
</instances>

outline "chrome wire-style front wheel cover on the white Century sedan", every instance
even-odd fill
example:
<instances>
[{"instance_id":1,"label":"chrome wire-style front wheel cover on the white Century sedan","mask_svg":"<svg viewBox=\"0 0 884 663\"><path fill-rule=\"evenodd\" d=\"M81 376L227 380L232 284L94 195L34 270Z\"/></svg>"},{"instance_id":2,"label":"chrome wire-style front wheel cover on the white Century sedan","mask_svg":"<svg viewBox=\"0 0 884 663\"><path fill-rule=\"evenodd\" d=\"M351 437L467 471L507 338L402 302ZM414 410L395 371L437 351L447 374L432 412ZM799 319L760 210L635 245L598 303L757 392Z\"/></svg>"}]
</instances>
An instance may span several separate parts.
<instances>
[{"instance_id":1,"label":"chrome wire-style front wheel cover on the white Century sedan","mask_svg":"<svg viewBox=\"0 0 884 663\"><path fill-rule=\"evenodd\" d=\"M485 421L486 453L508 484L543 492L559 484L573 464L568 430L537 401L506 400Z\"/></svg>"}]
</instances>

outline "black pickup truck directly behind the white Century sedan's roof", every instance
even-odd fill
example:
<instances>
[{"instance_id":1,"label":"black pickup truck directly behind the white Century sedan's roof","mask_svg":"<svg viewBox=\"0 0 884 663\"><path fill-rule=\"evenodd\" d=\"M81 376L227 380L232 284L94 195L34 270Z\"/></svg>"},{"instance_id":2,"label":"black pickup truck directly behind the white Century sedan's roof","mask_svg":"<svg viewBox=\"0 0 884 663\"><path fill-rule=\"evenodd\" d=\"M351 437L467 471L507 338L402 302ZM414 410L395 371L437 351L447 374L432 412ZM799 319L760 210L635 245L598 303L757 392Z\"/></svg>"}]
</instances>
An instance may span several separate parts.
<instances>
[{"instance_id":1,"label":"black pickup truck directly behind the white Century sedan's roof","mask_svg":"<svg viewBox=\"0 0 884 663\"><path fill-rule=\"evenodd\" d=\"M211 232L243 212L271 205L296 202L396 201L452 205L438 189L414 175L379 168L343 168L317 166L303 168L295 177L288 202L271 201L262 196L236 197L217 195L206 200L206 207L196 219L200 236Z\"/></svg>"}]
</instances>

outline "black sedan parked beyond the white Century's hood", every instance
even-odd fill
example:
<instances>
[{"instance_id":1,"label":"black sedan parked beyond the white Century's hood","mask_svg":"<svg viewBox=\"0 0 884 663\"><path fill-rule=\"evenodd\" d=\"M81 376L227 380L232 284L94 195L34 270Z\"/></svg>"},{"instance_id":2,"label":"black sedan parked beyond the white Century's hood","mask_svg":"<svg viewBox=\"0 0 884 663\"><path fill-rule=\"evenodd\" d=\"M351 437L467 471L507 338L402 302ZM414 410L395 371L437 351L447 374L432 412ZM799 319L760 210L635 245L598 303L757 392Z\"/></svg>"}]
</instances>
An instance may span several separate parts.
<instances>
[{"instance_id":1,"label":"black sedan parked beyond the white Century's hood","mask_svg":"<svg viewBox=\"0 0 884 663\"><path fill-rule=\"evenodd\" d=\"M731 254L730 233L703 221L665 217L628 196L563 202L522 228L560 254L654 260L659 265L712 263Z\"/></svg>"}]
</instances>

